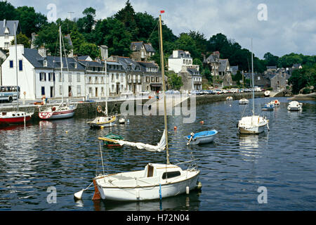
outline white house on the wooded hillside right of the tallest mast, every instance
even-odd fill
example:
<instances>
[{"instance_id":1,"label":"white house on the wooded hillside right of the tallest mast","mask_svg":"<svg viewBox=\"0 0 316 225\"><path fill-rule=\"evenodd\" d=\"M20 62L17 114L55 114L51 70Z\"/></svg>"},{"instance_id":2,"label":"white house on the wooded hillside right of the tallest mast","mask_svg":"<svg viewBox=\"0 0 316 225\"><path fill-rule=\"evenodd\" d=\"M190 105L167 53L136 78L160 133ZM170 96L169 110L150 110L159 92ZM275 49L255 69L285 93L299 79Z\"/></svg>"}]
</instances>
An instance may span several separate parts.
<instances>
[{"instance_id":1,"label":"white house on the wooded hillside right of the tallest mast","mask_svg":"<svg viewBox=\"0 0 316 225\"><path fill-rule=\"evenodd\" d=\"M168 58L168 70L178 73L185 65L187 68L192 67L192 58L188 51L173 50L172 55Z\"/></svg>"}]
</instances>

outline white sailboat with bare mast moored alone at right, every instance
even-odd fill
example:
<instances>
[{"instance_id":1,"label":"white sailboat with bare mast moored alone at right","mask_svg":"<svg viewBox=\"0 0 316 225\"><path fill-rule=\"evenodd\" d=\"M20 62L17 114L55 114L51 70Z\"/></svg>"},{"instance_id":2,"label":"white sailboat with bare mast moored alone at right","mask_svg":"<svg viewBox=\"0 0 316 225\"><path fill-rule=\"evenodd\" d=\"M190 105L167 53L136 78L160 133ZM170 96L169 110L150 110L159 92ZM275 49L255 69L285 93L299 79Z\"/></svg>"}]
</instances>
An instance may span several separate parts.
<instances>
[{"instance_id":1,"label":"white sailboat with bare mast moored alone at right","mask_svg":"<svg viewBox=\"0 0 316 225\"><path fill-rule=\"evenodd\" d=\"M252 115L242 117L239 120L237 127L240 134L260 134L265 131L265 127L268 127L268 120L255 115L254 111L254 55L252 51L252 39L251 39L251 74L252 74ZM269 127L268 127L269 129Z\"/></svg>"}]
</instances>

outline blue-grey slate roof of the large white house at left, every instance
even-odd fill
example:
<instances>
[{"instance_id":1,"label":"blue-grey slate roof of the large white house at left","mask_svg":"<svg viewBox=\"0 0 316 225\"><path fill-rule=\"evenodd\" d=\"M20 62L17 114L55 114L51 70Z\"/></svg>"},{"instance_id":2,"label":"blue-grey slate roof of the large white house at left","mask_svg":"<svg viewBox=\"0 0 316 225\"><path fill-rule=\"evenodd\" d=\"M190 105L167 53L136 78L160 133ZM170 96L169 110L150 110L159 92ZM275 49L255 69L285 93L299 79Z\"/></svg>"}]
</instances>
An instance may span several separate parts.
<instances>
[{"instance_id":1,"label":"blue-grey slate roof of the large white house at left","mask_svg":"<svg viewBox=\"0 0 316 225\"><path fill-rule=\"evenodd\" d=\"M59 56L46 56L44 58L38 53L37 49L24 49L23 56L34 66L34 68L60 69ZM47 60L46 67L43 65L44 59ZM74 64L77 64L77 68L74 68ZM84 67L80 63L77 63L74 58L67 57L66 64L66 58L62 57L62 65L62 68L65 70L67 70L67 65L69 70L84 70Z\"/></svg>"}]
</instances>

